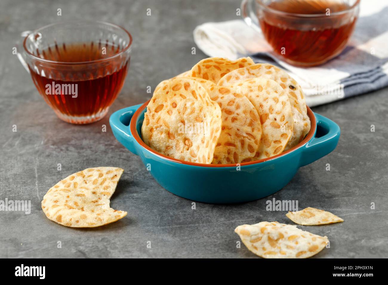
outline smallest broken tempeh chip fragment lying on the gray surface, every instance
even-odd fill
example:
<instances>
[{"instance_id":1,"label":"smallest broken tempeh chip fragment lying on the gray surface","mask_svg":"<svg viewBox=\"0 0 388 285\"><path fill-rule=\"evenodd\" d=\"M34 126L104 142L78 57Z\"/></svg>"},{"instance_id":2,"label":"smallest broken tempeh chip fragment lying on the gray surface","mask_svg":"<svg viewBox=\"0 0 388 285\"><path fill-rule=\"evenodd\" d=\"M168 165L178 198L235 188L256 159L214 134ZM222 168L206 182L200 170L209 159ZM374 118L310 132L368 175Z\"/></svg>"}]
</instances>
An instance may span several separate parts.
<instances>
[{"instance_id":1,"label":"smallest broken tempeh chip fragment lying on the gray surface","mask_svg":"<svg viewBox=\"0 0 388 285\"><path fill-rule=\"evenodd\" d=\"M294 223L303 226L343 222L343 219L337 217L331 212L326 212L312 207L308 207L298 212L288 212L286 216Z\"/></svg>"}]
</instances>

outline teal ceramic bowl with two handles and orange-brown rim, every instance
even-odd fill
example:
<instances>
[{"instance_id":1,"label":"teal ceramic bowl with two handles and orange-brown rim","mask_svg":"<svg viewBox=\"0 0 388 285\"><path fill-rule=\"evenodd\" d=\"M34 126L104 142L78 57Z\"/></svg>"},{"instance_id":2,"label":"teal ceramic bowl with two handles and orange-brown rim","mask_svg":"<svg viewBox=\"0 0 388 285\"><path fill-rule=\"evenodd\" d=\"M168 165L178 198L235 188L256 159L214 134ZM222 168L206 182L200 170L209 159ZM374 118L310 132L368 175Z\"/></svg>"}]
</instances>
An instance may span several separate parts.
<instances>
[{"instance_id":1,"label":"teal ceramic bowl with two handles and orange-brown rim","mask_svg":"<svg viewBox=\"0 0 388 285\"><path fill-rule=\"evenodd\" d=\"M333 151L340 128L307 107L311 130L305 139L279 155L241 164L200 164L159 154L142 141L141 127L148 102L114 112L109 123L116 139L139 155L158 183L180 197L207 203L257 200L281 190L302 166Z\"/></svg>"}]
</instances>

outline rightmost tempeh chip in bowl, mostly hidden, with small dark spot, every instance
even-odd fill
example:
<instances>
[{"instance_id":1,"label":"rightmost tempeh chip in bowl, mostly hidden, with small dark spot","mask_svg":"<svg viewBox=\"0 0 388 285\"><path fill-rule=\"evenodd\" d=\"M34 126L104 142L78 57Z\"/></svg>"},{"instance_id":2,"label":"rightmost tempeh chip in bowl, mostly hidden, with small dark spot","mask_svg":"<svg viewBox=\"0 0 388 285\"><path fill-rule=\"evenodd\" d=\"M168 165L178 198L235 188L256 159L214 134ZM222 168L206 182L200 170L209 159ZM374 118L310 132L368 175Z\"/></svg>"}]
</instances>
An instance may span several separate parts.
<instances>
[{"instance_id":1,"label":"rightmost tempeh chip in bowl, mostly hidden, with small dark spot","mask_svg":"<svg viewBox=\"0 0 388 285\"><path fill-rule=\"evenodd\" d=\"M236 69L218 81L219 86L235 87L240 81L249 78L266 78L276 81L288 95L293 112L293 134L284 150L291 149L310 131L310 118L307 116L306 101L300 85L284 70L272 64L254 64L248 67Z\"/></svg>"}]
</instances>

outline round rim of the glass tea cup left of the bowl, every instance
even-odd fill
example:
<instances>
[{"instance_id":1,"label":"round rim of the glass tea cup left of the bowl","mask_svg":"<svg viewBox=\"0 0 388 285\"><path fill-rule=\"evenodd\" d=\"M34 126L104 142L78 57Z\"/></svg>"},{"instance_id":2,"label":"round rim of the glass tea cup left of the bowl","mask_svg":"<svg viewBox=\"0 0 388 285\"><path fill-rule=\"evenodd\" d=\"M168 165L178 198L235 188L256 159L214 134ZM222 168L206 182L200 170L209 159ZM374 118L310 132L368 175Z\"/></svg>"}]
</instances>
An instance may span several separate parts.
<instances>
[{"instance_id":1,"label":"round rim of the glass tea cup left of the bowl","mask_svg":"<svg viewBox=\"0 0 388 285\"><path fill-rule=\"evenodd\" d=\"M89 61L79 61L79 62L55 61L55 60L49 60L49 59L42 59L41 57L37 57L36 55L34 55L31 52L29 52L29 50L26 48L26 42L27 42L27 38L29 37L29 35L31 35L33 33L37 33L37 32L39 32L42 29L49 28L49 27L52 27L52 26L58 26L58 25L61 25L61 24L74 23L74 21L62 21L62 22L54 22L54 23L48 24L46 26L43 26L43 27L40 27L38 29L35 29L35 30L31 31L31 33L29 33L24 38L24 40L23 40L24 51L27 53L28 56L32 57L33 59L39 60L39 61L42 61L42 62L45 62L45 63L58 64L58 65L81 65L81 64L94 64L94 63L99 63L99 62L104 62L104 61L107 61L107 60L114 59L115 57L118 57L118 56L122 55L124 52L126 52L128 49L130 49L130 47L132 47L132 35L125 28L123 28L122 26L119 26L119 25L116 25L116 24L112 24L112 23L108 23L108 22L104 22L104 21L94 21L94 20L79 20L79 21L75 21L75 22L77 22L77 23L99 23L99 24L104 24L104 25L107 25L107 26L111 26L111 27L114 27L114 28L121 29L129 36L129 42L126 45L126 47L123 48L123 50L121 50L117 54L111 55L111 56L109 56L107 58L104 58L104 59L95 59L95 60L89 60Z\"/></svg>"}]
</instances>

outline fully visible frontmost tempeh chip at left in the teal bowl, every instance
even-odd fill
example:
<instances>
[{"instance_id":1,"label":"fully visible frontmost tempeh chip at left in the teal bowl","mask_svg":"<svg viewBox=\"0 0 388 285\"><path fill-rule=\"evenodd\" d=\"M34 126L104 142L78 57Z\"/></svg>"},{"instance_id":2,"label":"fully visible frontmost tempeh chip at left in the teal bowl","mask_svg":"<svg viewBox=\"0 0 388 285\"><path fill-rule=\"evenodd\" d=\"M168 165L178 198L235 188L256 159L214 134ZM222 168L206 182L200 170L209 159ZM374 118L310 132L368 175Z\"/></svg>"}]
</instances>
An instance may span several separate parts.
<instances>
[{"instance_id":1,"label":"fully visible frontmost tempeh chip at left in the teal bowl","mask_svg":"<svg viewBox=\"0 0 388 285\"><path fill-rule=\"evenodd\" d=\"M210 164L222 126L221 109L197 81L175 78L147 105L142 125L144 143L189 162Z\"/></svg>"}]
</instances>

